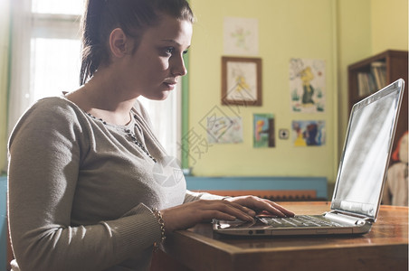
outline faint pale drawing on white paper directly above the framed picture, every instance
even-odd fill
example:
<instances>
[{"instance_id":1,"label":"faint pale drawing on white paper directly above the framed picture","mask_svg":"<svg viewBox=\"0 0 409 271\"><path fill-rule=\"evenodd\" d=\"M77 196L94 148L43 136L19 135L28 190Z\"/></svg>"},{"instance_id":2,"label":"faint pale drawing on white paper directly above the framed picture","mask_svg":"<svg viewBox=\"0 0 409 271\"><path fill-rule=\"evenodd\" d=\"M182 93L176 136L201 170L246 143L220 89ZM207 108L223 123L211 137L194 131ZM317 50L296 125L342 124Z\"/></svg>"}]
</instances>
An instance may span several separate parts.
<instances>
[{"instance_id":1,"label":"faint pale drawing on white paper directly above the framed picture","mask_svg":"<svg viewBox=\"0 0 409 271\"><path fill-rule=\"evenodd\" d=\"M259 22L257 19L224 18L224 54L259 54Z\"/></svg>"}]
</instances>

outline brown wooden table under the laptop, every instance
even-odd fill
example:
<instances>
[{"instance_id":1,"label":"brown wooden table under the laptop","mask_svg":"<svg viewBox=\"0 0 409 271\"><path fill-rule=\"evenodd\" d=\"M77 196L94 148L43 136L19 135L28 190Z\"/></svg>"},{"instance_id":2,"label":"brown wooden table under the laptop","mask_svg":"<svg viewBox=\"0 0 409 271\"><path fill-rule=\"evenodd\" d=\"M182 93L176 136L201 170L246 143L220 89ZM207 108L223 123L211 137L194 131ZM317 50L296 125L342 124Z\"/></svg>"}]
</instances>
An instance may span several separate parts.
<instances>
[{"instance_id":1,"label":"brown wooden table under the laptop","mask_svg":"<svg viewBox=\"0 0 409 271\"><path fill-rule=\"evenodd\" d=\"M281 205L298 214L330 209L325 201ZM153 270L408 270L408 208L382 206L357 237L225 238L204 223L169 236L164 249Z\"/></svg>"}]
</instances>

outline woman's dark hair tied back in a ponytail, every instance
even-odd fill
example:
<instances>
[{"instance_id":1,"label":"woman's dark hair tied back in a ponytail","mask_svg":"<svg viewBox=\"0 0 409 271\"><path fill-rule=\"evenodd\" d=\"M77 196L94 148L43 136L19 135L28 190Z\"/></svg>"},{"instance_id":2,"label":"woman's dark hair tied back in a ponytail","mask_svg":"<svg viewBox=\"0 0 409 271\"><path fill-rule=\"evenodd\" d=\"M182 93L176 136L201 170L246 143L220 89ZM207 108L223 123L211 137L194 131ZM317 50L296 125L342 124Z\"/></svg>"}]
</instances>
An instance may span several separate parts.
<instances>
[{"instance_id":1,"label":"woman's dark hair tied back in a ponytail","mask_svg":"<svg viewBox=\"0 0 409 271\"><path fill-rule=\"evenodd\" d=\"M108 42L112 30L121 28L138 46L145 29L157 25L163 14L191 23L195 20L185 0L88 0L82 17L80 85L101 64L109 64Z\"/></svg>"}]
</instances>

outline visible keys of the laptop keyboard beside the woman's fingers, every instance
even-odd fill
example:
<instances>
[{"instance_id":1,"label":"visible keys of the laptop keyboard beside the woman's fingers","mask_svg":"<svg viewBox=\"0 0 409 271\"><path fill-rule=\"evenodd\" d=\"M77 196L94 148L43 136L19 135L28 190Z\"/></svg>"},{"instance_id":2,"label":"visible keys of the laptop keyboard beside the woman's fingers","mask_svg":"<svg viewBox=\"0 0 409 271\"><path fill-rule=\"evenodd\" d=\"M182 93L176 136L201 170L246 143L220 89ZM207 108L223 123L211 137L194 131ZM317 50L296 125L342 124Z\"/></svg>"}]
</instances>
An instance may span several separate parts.
<instances>
[{"instance_id":1,"label":"visible keys of the laptop keyboard beside the woman's fingers","mask_svg":"<svg viewBox=\"0 0 409 271\"><path fill-rule=\"evenodd\" d=\"M288 227L342 227L341 224L328 220L320 220L308 215L295 216L293 218L259 218L264 224L274 228Z\"/></svg>"}]
</instances>

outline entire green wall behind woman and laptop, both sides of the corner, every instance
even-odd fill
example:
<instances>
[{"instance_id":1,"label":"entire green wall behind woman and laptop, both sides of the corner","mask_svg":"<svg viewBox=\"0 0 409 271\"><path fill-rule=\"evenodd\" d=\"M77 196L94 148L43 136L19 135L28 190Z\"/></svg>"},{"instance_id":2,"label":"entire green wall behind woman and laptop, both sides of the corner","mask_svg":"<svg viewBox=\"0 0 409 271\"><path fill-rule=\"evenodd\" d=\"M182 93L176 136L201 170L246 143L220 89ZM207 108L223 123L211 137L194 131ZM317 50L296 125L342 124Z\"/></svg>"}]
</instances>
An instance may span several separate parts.
<instances>
[{"instance_id":1,"label":"entire green wall behind woman and laptop, both sides of the corner","mask_svg":"<svg viewBox=\"0 0 409 271\"><path fill-rule=\"evenodd\" d=\"M221 58L224 17L257 18L262 58L262 107L239 107L242 144L190 148L189 165L197 176L323 176L335 182L338 155L347 126L347 65L386 49L407 50L405 0L191 0L197 17L189 52L189 135L202 142L201 121L221 105ZM376 21L397 13L394 20ZM397 23L399 22L399 23ZM404 23L405 22L405 23ZM395 33L389 30L394 29ZM394 40L391 39L393 36ZM386 38L386 41L385 41ZM323 114L290 112L290 58L326 61L327 105ZM252 115L275 116L276 147L252 147ZM327 144L294 147L278 130L291 130L292 120L325 120ZM290 135L292 136L292 134ZM290 137L291 138L291 137ZM200 148L202 154L196 154Z\"/></svg>"}]
</instances>

